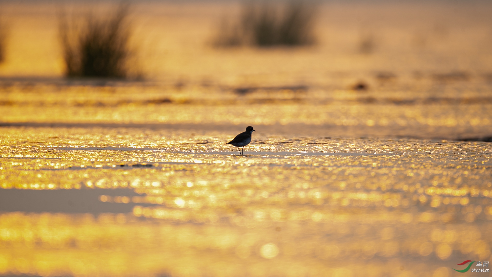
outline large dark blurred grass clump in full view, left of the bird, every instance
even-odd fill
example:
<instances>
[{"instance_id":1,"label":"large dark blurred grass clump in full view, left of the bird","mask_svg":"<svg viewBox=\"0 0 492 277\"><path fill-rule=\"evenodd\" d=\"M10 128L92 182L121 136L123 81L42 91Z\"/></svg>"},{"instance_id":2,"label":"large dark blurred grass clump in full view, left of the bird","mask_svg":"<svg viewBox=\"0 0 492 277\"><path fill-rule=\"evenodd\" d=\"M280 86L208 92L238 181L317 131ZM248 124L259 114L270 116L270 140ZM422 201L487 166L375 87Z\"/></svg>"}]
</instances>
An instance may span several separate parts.
<instances>
[{"instance_id":1,"label":"large dark blurred grass clump in full view, left of the bird","mask_svg":"<svg viewBox=\"0 0 492 277\"><path fill-rule=\"evenodd\" d=\"M129 5L96 17L87 13L82 22L60 16L60 36L68 77L127 78L129 73Z\"/></svg>"}]
</instances>

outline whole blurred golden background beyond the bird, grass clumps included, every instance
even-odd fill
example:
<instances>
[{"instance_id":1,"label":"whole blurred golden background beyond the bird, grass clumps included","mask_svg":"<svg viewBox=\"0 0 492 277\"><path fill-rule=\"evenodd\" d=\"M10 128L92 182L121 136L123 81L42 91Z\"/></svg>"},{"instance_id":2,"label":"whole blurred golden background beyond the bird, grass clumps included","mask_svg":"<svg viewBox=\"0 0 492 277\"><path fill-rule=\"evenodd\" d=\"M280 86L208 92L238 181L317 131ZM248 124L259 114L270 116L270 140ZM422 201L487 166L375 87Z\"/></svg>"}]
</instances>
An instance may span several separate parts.
<instances>
[{"instance_id":1,"label":"whole blurred golden background beyond the bird, grass clumps included","mask_svg":"<svg viewBox=\"0 0 492 277\"><path fill-rule=\"evenodd\" d=\"M490 9L487 1L7 1L1 121L261 124L280 133L297 124L308 135L487 140ZM20 103L33 112L12 108ZM234 112L211 114L204 103ZM242 104L257 106L235 108ZM189 118L194 109L204 112Z\"/></svg>"}]
</instances>

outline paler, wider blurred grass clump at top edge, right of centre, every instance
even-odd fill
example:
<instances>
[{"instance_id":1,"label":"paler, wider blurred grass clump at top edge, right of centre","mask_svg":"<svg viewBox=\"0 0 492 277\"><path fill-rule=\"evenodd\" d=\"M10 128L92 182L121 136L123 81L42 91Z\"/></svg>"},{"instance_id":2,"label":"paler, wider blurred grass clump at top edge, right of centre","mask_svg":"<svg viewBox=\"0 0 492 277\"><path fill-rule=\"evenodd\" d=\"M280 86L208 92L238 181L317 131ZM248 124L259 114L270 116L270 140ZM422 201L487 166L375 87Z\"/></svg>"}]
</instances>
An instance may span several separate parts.
<instances>
[{"instance_id":1,"label":"paler, wider blurred grass clump at top edge, right of centre","mask_svg":"<svg viewBox=\"0 0 492 277\"><path fill-rule=\"evenodd\" d=\"M246 1L239 20L224 18L216 46L300 46L314 43L315 5L305 0Z\"/></svg>"}]
</instances>

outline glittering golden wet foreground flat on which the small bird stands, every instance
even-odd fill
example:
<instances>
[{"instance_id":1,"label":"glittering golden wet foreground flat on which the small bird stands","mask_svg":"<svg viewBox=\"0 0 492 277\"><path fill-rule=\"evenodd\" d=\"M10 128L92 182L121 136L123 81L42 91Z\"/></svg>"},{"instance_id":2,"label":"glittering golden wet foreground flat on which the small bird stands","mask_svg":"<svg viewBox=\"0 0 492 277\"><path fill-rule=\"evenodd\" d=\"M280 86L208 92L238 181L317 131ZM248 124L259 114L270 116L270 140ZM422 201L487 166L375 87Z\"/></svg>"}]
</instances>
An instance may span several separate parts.
<instances>
[{"instance_id":1,"label":"glittering golden wet foreground flat on which the small bird stands","mask_svg":"<svg viewBox=\"0 0 492 277\"><path fill-rule=\"evenodd\" d=\"M0 215L1 272L450 276L490 259L491 144L257 133L241 156L216 131L3 127L0 208L18 212Z\"/></svg>"}]
</instances>

